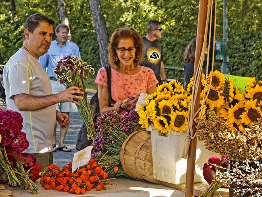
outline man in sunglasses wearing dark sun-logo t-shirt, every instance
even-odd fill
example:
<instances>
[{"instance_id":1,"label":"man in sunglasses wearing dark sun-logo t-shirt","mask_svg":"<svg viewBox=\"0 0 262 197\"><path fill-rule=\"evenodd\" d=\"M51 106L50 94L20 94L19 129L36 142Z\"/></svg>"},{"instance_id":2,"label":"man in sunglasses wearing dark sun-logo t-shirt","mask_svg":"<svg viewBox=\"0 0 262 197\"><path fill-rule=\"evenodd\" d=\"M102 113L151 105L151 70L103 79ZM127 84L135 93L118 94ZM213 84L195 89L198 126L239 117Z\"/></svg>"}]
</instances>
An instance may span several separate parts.
<instances>
[{"instance_id":1,"label":"man in sunglasses wearing dark sun-logo t-shirt","mask_svg":"<svg viewBox=\"0 0 262 197\"><path fill-rule=\"evenodd\" d=\"M144 43L144 60L141 62L141 65L149 67L154 71L160 85L163 82L167 82L162 47L158 40L162 34L161 24L156 20L151 20L147 23L146 31L147 35L142 38Z\"/></svg>"}]
</instances>

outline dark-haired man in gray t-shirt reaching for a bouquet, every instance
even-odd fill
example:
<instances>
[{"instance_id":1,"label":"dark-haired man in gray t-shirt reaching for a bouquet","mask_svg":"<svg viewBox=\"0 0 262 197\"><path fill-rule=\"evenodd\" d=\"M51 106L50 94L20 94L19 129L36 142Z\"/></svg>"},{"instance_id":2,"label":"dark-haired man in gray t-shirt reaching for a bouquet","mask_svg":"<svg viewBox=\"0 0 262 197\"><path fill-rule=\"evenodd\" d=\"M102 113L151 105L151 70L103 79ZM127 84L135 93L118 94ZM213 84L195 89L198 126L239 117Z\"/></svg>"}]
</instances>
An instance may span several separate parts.
<instances>
[{"instance_id":1,"label":"dark-haired man in gray t-shirt reaching for a bouquet","mask_svg":"<svg viewBox=\"0 0 262 197\"><path fill-rule=\"evenodd\" d=\"M58 94L52 94L48 75L38 62L51 44L54 21L36 13L29 16L24 24L23 46L6 63L3 80L7 108L20 112L23 117L22 131L26 133L32 154L44 167L53 163L52 137L56 122L67 127L67 114L56 111L55 104L83 99L76 86Z\"/></svg>"}]
</instances>

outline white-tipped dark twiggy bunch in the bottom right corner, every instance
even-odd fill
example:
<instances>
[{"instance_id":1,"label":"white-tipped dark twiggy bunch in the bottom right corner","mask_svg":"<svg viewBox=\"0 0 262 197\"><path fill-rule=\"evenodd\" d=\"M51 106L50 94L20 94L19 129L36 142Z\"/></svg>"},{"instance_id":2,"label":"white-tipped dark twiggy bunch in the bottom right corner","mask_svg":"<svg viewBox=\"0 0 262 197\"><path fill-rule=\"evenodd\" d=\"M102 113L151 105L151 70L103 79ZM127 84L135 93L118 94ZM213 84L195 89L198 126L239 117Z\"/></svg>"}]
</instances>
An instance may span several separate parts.
<instances>
[{"instance_id":1,"label":"white-tipped dark twiggy bunch in the bottom right corner","mask_svg":"<svg viewBox=\"0 0 262 197\"><path fill-rule=\"evenodd\" d=\"M216 176L218 181L227 181L236 195L249 195L250 197L262 196L262 162L231 163L232 169L219 172Z\"/></svg>"}]
</instances>

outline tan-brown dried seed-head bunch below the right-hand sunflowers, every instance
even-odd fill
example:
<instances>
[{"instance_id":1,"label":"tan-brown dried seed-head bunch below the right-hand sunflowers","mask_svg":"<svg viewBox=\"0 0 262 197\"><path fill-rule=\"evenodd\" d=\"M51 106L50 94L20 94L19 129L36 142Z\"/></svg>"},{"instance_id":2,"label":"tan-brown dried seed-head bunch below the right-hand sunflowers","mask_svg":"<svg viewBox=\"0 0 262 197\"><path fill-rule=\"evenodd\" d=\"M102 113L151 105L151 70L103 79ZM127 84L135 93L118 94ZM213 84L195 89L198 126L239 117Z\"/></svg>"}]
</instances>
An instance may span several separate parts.
<instances>
[{"instance_id":1,"label":"tan-brown dried seed-head bunch below the right-hand sunflowers","mask_svg":"<svg viewBox=\"0 0 262 197\"><path fill-rule=\"evenodd\" d=\"M208 110L208 119L195 119L197 137L205 141L205 147L229 160L262 159L262 118L241 133L233 131L225 121Z\"/></svg>"}]
</instances>

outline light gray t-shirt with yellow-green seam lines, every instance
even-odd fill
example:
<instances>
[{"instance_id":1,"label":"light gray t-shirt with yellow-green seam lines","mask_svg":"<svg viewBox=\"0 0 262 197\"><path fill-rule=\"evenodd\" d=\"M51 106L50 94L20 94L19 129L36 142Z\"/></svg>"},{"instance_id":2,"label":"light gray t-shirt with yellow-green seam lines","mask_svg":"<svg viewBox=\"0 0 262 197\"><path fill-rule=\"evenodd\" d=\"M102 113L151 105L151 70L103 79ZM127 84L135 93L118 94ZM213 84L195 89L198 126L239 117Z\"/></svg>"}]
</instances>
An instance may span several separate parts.
<instances>
[{"instance_id":1,"label":"light gray t-shirt with yellow-green seam lines","mask_svg":"<svg viewBox=\"0 0 262 197\"><path fill-rule=\"evenodd\" d=\"M36 58L19 49L6 63L3 70L7 108L20 112L22 131L27 134L27 153L51 152L52 136L56 124L56 107L52 105L37 111L19 111L13 96L28 94L42 96L52 94L49 77Z\"/></svg>"}]
</instances>

